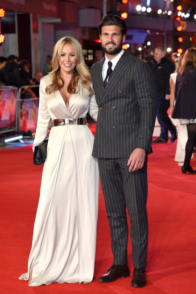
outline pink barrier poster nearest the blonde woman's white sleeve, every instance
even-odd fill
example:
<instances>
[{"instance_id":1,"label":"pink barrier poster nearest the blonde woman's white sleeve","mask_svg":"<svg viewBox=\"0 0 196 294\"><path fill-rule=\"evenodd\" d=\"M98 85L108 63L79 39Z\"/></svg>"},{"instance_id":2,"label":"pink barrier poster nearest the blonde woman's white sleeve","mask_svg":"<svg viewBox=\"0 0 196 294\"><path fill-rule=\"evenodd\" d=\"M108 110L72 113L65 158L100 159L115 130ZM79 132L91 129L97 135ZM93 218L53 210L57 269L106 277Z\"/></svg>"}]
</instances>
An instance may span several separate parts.
<instances>
[{"instance_id":1,"label":"pink barrier poster nearest the blonde woman's white sleeve","mask_svg":"<svg viewBox=\"0 0 196 294\"><path fill-rule=\"evenodd\" d=\"M39 98L20 100L20 130L23 132L35 131L38 121Z\"/></svg>"}]
</instances>

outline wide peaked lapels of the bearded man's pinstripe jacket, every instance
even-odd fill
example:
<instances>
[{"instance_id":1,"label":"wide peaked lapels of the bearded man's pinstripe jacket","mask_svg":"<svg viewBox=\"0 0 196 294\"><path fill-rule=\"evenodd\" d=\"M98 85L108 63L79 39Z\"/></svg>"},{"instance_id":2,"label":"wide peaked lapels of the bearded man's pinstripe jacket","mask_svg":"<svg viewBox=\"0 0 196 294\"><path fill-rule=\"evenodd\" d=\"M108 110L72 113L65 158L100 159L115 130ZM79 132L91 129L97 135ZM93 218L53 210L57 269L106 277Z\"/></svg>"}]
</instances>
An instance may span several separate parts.
<instances>
[{"instance_id":1,"label":"wide peaked lapels of the bearded man's pinstripe jacket","mask_svg":"<svg viewBox=\"0 0 196 294\"><path fill-rule=\"evenodd\" d=\"M105 60L105 58L104 58ZM103 61L104 62L104 61ZM111 74L111 77L107 83L107 86L104 88L103 84L103 78L102 74L100 74L101 79L102 79L102 84L103 84L103 89L100 89L102 93L102 101L106 99L106 97L110 94L110 92L114 89L116 84L122 79L122 77L125 75L125 73L129 70L131 64L133 63L133 55L130 54L128 51L125 51L121 58L118 60L118 63L114 67L114 71ZM102 71L103 63L101 66L101 71ZM100 104L101 104L100 103Z\"/></svg>"}]
</instances>

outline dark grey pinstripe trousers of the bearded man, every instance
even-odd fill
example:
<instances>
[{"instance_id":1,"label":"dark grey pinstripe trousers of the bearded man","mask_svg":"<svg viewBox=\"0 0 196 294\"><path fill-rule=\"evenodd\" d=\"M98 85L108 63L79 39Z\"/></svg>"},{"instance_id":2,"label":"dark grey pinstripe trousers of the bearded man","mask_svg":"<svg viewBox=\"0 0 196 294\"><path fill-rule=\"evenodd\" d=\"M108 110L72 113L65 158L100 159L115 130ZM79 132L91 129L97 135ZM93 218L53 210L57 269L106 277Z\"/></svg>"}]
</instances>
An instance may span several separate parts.
<instances>
[{"instance_id":1,"label":"dark grey pinstripe trousers of the bearded man","mask_svg":"<svg viewBox=\"0 0 196 294\"><path fill-rule=\"evenodd\" d=\"M129 172L128 158L98 158L101 186L111 231L113 264L126 265L128 223L131 223L133 266L146 266L147 221L147 156L142 169Z\"/></svg>"}]
</instances>

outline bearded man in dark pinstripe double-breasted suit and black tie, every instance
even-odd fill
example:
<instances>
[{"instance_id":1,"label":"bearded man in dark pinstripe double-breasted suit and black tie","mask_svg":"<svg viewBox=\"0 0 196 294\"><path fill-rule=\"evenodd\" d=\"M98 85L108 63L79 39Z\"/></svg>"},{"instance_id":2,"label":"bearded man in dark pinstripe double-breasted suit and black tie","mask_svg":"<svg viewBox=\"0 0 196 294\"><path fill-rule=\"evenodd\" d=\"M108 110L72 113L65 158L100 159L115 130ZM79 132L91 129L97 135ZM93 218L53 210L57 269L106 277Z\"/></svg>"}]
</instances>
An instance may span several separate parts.
<instances>
[{"instance_id":1,"label":"bearded man in dark pinstripe double-breasted suit and black tie","mask_svg":"<svg viewBox=\"0 0 196 294\"><path fill-rule=\"evenodd\" d=\"M131 221L133 287L146 285L147 155L156 118L156 90L150 67L122 49L126 23L109 14L98 25L105 56L91 68L99 106L93 156L98 158L113 264L100 282L129 277L128 224Z\"/></svg>"}]
</instances>

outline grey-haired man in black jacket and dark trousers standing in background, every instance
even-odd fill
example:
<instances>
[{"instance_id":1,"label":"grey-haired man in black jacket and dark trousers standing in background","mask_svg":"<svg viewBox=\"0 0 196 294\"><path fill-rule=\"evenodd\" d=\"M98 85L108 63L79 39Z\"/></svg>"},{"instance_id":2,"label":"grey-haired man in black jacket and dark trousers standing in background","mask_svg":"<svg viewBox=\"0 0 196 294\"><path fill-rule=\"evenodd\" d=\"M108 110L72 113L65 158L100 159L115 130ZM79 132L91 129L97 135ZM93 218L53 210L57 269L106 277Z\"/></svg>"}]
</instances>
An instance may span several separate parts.
<instances>
[{"instance_id":1,"label":"grey-haired man in black jacket and dark trousers standing in background","mask_svg":"<svg viewBox=\"0 0 196 294\"><path fill-rule=\"evenodd\" d=\"M152 67L157 90L157 118L161 125L160 136L153 140L154 143L167 143L168 131L171 133L170 142L177 138L176 127L172 124L167 110L169 109L170 86L169 78L175 70L174 65L167 59L162 47L157 47L154 51L156 64Z\"/></svg>"}]
</instances>

